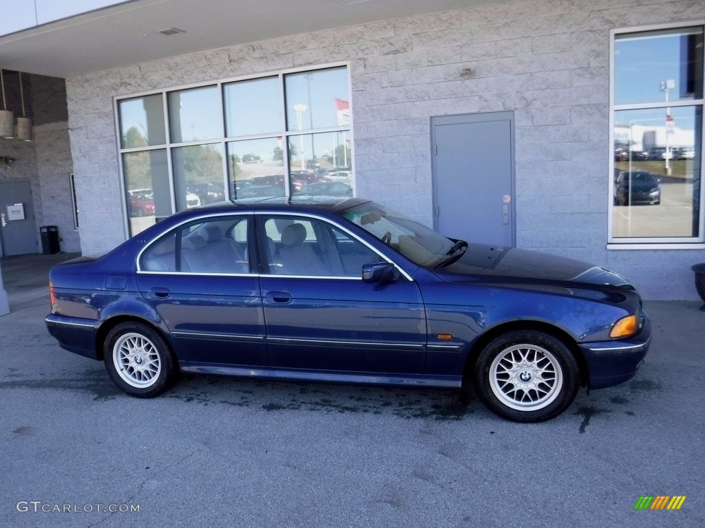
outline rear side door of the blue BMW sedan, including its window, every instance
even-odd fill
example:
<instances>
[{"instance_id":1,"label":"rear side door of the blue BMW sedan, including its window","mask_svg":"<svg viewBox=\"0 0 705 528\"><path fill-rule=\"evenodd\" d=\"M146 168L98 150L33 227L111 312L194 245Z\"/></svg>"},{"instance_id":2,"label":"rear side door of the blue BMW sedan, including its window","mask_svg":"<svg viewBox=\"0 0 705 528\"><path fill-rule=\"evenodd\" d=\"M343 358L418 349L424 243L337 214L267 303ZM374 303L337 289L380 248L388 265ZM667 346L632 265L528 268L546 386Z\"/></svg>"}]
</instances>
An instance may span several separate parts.
<instances>
[{"instance_id":1,"label":"rear side door of the blue BMW sedan, including its window","mask_svg":"<svg viewBox=\"0 0 705 528\"><path fill-rule=\"evenodd\" d=\"M250 215L188 222L142 252L137 284L188 363L266 366Z\"/></svg>"}]
</instances>

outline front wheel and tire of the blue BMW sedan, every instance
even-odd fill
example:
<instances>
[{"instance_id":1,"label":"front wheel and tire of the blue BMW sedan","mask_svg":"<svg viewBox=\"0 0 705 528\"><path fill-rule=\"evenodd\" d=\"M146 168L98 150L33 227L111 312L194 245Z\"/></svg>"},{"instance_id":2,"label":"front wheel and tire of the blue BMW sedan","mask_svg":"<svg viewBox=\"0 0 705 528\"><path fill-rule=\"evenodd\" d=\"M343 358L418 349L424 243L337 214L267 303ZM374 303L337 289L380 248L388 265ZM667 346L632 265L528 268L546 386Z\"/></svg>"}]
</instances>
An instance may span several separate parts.
<instances>
[{"instance_id":1,"label":"front wheel and tire of the blue BMW sedan","mask_svg":"<svg viewBox=\"0 0 705 528\"><path fill-rule=\"evenodd\" d=\"M570 406L580 375L563 341L544 332L515 330L482 349L474 382L493 413L514 422L544 422Z\"/></svg>"}]
</instances>

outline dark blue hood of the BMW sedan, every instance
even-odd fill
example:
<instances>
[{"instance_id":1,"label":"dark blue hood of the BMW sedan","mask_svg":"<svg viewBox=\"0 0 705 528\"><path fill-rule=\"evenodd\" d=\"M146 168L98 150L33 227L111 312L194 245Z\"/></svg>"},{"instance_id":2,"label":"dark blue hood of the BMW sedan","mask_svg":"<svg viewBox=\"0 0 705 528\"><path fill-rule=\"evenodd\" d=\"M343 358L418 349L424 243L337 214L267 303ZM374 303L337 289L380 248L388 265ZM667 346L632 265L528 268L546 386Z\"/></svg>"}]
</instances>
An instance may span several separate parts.
<instances>
[{"instance_id":1,"label":"dark blue hood of the BMW sedan","mask_svg":"<svg viewBox=\"0 0 705 528\"><path fill-rule=\"evenodd\" d=\"M618 273L582 260L484 244L470 244L459 260L436 272L451 281L465 280L468 275L485 275L502 279L579 282L634 289Z\"/></svg>"}]
</instances>

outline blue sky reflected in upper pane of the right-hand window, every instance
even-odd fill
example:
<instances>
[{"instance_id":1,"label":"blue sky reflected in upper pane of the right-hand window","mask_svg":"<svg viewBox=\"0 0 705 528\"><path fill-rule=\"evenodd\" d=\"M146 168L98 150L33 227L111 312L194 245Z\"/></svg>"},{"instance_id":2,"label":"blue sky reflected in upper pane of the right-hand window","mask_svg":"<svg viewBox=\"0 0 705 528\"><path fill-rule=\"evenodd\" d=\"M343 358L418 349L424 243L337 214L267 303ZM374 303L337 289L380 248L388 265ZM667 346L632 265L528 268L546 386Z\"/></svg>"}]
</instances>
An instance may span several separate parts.
<instances>
[{"instance_id":1,"label":"blue sky reflected in upper pane of the right-hand window","mask_svg":"<svg viewBox=\"0 0 705 528\"><path fill-rule=\"evenodd\" d=\"M675 89L668 94L670 101L692 99L692 96L680 96L685 91L683 74L687 55L682 52L682 44L686 38L683 32L618 37L615 40L615 103L665 101L665 94L661 92L661 82L665 80L675 81Z\"/></svg>"}]
</instances>

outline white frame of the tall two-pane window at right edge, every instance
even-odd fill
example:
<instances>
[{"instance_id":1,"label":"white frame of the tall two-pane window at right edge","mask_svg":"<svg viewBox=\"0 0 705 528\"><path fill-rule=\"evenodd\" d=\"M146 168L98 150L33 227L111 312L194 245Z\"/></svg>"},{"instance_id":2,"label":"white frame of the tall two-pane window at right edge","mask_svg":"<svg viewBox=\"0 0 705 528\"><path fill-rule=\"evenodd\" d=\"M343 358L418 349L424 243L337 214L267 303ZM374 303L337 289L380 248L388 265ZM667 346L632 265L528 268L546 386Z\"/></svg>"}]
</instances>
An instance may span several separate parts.
<instances>
[{"instance_id":1,"label":"white frame of the tall two-pane window at right edge","mask_svg":"<svg viewBox=\"0 0 705 528\"><path fill-rule=\"evenodd\" d=\"M609 49L609 142L608 142L608 214L607 214L607 249L705 249L705 182L703 181L705 168L705 75L703 82L701 99L689 99L684 101L668 101L668 103L627 103L615 104L615 41L618 35L658 32L661 30L678 30L687 27L702 27L705 33L705 20L692 20L682 23L668 23L658 25L646 25L610 30ZM705 50L703 51L705 54ZM705 63L705 56L704 56ZM700 144L700 189L699 189L699 229L697 237L615 237L614 236L614 205L613 196L615 189L614 172L614 140L615 140L615 113L618 111L644 110L651 108L670 108L693 106L701 108L701 144ZM697 147L697 145L695 145Z\"/></svg>"}]
</instances>

